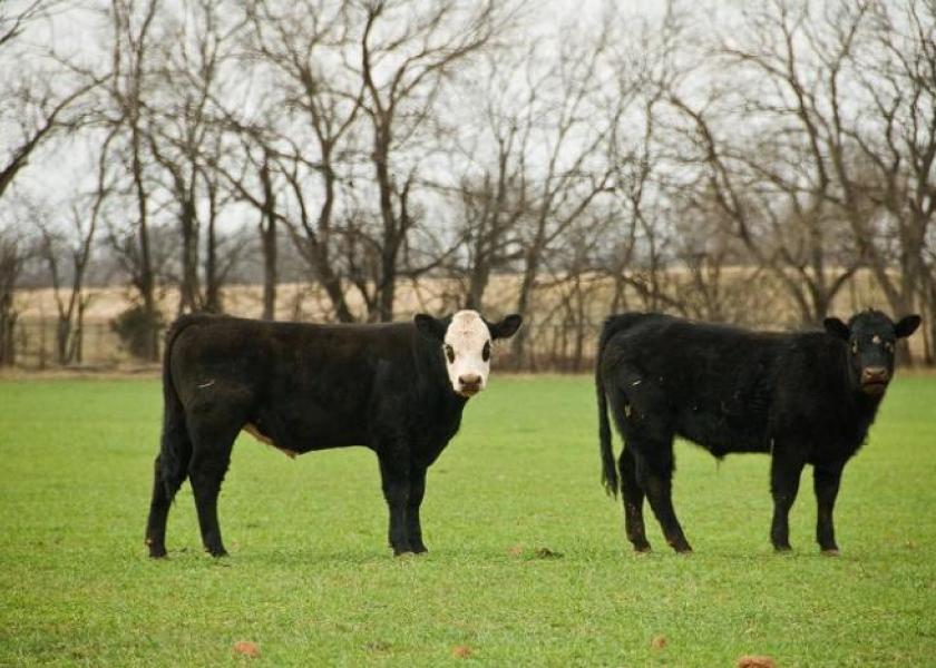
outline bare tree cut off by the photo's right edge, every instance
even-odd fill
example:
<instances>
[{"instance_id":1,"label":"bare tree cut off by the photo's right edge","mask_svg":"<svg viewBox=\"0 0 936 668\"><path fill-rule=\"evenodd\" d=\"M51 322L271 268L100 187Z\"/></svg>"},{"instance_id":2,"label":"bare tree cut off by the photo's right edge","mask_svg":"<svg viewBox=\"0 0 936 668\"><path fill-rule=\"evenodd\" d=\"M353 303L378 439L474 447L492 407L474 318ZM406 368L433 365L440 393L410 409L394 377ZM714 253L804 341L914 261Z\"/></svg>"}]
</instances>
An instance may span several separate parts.
<instances>
[{"instance_id":1,"label":"bare tree cut off by the photo's right edge","mask_svg":"<svg viewBox=\"0 0 936 668\"><path fill-rule=\"evenodd\" d=\"M936 217L936 4L876 3L868 12L869 43L849 53L864 92L860 120L849 124L841 114L833 117L842 144L850 140L859 156L837 163L842 198L854 212L858 235L872 233L856 210L862 197L886 212L884 233L896 240L896 257L880 253L879 247L886 248L880 243L866 253L891 308L898 315L908 313L920 299L934 313L934 274L926 248ZM888 271L895 259L897 278ZM932 342L932 320L930 327Z\"/></svg>"}]
</instances>

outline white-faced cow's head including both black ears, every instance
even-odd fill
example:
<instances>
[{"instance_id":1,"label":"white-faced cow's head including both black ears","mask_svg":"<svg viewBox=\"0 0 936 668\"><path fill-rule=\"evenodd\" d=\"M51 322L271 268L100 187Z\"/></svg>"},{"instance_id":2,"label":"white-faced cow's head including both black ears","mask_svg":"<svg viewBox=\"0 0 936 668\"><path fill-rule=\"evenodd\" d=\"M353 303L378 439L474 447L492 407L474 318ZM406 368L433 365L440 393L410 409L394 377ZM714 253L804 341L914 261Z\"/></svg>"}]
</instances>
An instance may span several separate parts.
<instances>
[{"instance_id":1,"label":"white-faced cow's head including both black ears","mask_svg":"<svg viewBox=\"0 0 936 668\"><path fill-rule=\"evenodd\" d=\"M514 314L489 323L477 311L459 311L442 320L420 313L413 322L425 336L439 344L451 389L467 397L487 385L491 341L513 336L523 317Z\"/></svg>"}]
</instances>

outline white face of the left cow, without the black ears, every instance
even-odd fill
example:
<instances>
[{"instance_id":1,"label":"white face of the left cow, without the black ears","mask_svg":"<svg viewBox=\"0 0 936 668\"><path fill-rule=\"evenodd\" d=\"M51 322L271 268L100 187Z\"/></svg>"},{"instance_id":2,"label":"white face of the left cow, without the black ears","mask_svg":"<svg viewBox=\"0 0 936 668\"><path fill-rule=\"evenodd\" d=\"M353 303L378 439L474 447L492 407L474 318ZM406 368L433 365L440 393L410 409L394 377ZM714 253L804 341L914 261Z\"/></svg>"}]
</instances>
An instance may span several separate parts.
<instances>
[{"instance_id":1,"label":"white face of the left cow, without the black ears","mask_svg":"<svg viewBox=\"0 0 936 668\"><path fill-rule=\"evenodd\" d=\"M452 390L471 396L485 389L490 371L490 330L476 311L459 311L451 316L443 352Z\"/></svg>"}]
</instances>

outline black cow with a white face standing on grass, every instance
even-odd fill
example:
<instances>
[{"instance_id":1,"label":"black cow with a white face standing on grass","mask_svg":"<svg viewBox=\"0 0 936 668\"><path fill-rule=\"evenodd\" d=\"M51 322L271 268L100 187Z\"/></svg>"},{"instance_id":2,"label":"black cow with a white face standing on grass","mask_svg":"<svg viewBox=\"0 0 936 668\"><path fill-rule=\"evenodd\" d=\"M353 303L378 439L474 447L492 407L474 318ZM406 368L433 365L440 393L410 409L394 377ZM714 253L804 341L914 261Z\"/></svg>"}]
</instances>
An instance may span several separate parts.
<instances>
[{"instance_id":1,"label":"black cow with a white face standing on grass","mask_svg":"<svg viewBox=\"0 0 936 668\"><path fill-rule=\"evenodd\" d=\"M164 416L146 527L166 556L166 519L187 478L205 550L226 554L217 498L243 430L290 456L363 445L377 453L394 554L426 552L426 470L488 382L491 342L511 336L475 311L410 323L303 324L185 315L166 335Z\"/></svg>"}]
</instances>

